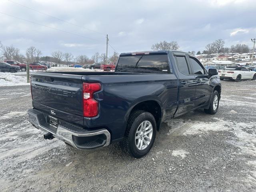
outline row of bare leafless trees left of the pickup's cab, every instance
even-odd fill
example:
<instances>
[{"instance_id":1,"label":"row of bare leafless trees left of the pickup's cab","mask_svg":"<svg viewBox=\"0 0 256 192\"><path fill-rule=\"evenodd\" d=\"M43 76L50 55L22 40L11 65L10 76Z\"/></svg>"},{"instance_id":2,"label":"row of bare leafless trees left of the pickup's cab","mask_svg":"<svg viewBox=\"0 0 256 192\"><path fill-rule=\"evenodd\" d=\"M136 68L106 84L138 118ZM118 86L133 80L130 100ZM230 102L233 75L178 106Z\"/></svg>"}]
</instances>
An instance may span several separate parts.
<instances>
[{"instance_id":1,"label":"row of bare leafless trees left of the pickup's cab","mask_svg":"<svg viewBox=\"0 0 256 192\"><path fill-rule=\"evenodd\" d=\"M55 62L60 66L60 64L66 64L67 66L71 63L77 64L93 64L93 63L106 63L106 53L100 54L96 52L91 58L86 55L78 55L74 57L74 55L70 52L62 52L60 50L56 50L52 52L51 56L42 56L42 51L35 48L34 46L30 46L26 50L26 55L20 54L20 49L15 48L13 45L4 46L0 42L0 50L2 55L0 55L0 60L16 60L18 62L26 61L36 62L36 61L44 61L44 62ZM109 62L117 62L119 58L119 54L114 52L112 56L108 57Z\"/></svg>"}]
</instances>

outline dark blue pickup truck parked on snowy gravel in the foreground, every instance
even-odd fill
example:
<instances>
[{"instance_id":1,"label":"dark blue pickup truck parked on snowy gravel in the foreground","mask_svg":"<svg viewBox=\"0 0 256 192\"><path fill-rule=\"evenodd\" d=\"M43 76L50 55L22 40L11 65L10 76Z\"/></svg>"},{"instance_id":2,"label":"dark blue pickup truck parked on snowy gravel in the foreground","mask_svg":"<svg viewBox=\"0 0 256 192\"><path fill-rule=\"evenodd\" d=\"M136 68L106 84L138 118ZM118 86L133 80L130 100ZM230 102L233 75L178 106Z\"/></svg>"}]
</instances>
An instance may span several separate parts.
<instances>
[{"instance_id":1,"label":"dark blue pickup truck parked on snowy gravel in the foreground","mask_svg":"<svg viewBox=\"0 0 256 192\"><path fill-rule=\"evenodd\" d=\"M218 110L216 69L204 69L180 51L122 53L115 72L31 73L29 121L78 149L120 142L140 158L151 149L166 119L190 110Z\"/></svg>"}]
</instances>

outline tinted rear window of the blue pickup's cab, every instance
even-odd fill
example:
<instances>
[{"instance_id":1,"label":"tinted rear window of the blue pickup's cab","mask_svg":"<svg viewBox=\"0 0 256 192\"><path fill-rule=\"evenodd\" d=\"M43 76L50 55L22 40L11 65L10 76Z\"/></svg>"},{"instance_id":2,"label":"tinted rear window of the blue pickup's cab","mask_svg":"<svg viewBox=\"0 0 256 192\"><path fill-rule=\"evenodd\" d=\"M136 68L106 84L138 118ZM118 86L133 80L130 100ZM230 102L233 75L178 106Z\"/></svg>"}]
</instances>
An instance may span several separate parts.
<instances>
[{"instance_id":1,"label":"tinted rear window of the blue pickup's cab","mask_svg":"<svg viewBox=\"0 0 256 192\"><path fill-rule=\"evenodd\" d=\"M116 72L171 73L167 55L121 56Z\"/></svg>"}]
</instances>

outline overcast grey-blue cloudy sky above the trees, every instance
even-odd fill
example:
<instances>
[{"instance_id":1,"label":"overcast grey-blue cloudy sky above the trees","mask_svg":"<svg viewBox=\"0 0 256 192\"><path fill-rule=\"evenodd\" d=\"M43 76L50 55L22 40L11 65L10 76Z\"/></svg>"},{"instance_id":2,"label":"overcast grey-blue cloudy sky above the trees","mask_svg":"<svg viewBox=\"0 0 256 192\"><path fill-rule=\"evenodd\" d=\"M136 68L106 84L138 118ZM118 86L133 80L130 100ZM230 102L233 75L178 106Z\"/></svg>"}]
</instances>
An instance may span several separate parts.
<instances>
[{"instance_id":1,"label":"overcast grey-blue cloudy sky above the trees","mask_svg":"<svg viewBox=\"0 0 256 192\"><path fill-rule=\"evenodd\" d=\"M22 54L35 46L43 55L61 50L90 57L106 51L104 34L118 53L150 50L163 40L176 40L186 52L202 51L218 38L225 46L251 48L250 38L256 38L255 0L0 0L0 12L51 27L0 14L0 41Z\"/></svg>"}]
</instances>

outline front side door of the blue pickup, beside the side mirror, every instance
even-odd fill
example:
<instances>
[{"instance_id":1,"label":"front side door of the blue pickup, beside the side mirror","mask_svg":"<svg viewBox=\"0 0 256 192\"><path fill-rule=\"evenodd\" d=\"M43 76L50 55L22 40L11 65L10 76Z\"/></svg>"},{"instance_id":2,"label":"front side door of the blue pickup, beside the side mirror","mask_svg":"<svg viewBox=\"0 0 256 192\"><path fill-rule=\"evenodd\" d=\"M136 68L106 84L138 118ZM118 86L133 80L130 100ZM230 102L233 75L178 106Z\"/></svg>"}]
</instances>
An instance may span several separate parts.
<instances>
[{"instance_id":1,"label":"front side door of the blue pickup, beside the side mirror","mask_svg":"<svg viewBox=\"0 0 256 192\"><path fill-rule=\"evenodd\" d=\"M208 103L212 94L212 87L209 85L207 71L200 61L191 55L189 55L188 58L192 69L191 74L196 78L195 106L198 107Z\"/></svg>"}]
</instances>

